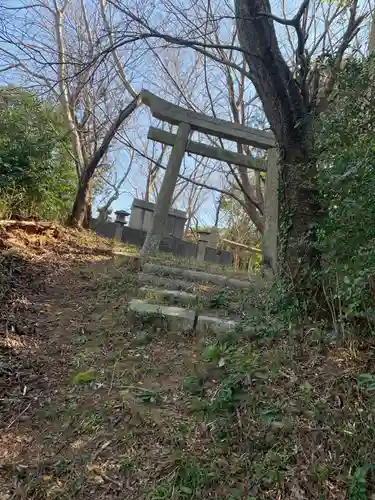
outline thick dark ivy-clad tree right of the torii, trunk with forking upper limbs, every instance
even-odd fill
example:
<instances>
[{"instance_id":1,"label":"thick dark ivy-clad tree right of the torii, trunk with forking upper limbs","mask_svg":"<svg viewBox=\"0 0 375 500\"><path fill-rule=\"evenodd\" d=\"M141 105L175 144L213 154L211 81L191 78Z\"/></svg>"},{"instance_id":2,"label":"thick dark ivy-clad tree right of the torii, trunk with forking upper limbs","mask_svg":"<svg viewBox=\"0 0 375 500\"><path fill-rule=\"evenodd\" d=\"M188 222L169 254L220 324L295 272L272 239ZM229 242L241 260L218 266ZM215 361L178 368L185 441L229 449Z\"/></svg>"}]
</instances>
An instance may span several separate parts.
<instances>
[{"instance_id":1,"label":"thick dark ivy-clad tree right of the torii, trunk with forking upper limbs","mask_svg":"<svg viewBox=\"0 0 375 500\"><path fill-rule=\"evenodd\" d=\"M350 2L349 20L333 56L332 77L325 84L325 99L317 107L309 82L310 58L306 53L304 20L308 1L303 1L293 19L271 13L270 0L235 0L238 39L245 50L250 79L262 101L280 153L279 239L283 277L301 305L314 307L313 294L320 294L317 282L319 253L315 242L321 216L314 157L313 120L332 92L337 71L364 16L357 15L358 1ZM297 68L292 72L282 56L274 20L293 26L297 33ZM370 46L372 39L370 37ZM321 295L318 296L321 303Z\"/></svg>"}]
</instances>

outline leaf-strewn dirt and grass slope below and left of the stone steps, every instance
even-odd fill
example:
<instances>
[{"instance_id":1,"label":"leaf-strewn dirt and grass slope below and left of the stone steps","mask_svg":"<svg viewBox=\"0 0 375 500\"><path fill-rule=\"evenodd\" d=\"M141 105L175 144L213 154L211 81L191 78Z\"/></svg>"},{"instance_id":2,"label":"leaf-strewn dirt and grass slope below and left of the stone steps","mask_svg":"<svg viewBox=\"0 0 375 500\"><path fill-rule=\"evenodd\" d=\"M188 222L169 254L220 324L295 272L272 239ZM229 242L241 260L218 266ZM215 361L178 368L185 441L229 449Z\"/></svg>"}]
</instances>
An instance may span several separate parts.
<instances>
[{"instance_id":1,"label":"leaf-strewn dirt and grass slope below and left of the stone steps","mask_svg":"<svg viewBox=\"0 0 375 500\"><path fill-rule=\"evenodd\" d=\"M1 500L372 498L368 343L134 325L122 258L45 238L0 260Z\"/></svg>"}]
</instances>

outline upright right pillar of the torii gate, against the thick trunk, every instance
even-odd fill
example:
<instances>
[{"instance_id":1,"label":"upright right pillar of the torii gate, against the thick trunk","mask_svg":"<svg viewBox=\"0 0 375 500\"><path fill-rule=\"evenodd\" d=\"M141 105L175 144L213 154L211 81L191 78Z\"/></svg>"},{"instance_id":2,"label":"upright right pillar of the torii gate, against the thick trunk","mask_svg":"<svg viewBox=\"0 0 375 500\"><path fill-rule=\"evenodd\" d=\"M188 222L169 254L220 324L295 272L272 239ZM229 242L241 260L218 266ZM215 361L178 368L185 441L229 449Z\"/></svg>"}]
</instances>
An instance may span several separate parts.
<instances>
[{"instance_id":1,"label":"upright right pillar of the torii gate, against the thick trunk","mask_svg":"<svg viewBox=\"0 0 375 500\"><path fill-rule=\"evenodd\" d=\"M277 273L279 217L279 166L277 150L267 151L267 174L264 195L264 233L262 240L263 273L271 278Z\"/></svg>"}]
</instances>

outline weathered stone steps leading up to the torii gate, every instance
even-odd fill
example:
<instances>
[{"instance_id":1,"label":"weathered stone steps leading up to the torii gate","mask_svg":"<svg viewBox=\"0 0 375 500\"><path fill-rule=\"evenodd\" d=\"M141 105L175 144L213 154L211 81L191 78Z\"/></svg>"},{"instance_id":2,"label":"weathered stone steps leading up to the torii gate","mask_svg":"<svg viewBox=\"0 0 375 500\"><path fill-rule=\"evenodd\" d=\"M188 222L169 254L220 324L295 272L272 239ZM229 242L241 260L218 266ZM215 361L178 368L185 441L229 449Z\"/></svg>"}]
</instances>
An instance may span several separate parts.
<instances>
[{"instance_id":1,"label":"weathered stone steps leading up to the torii gate","mask_svg":"<svg viewBox=\"0 0 375 500\"><path fill-rule=\"evenodd\" d=\"M245 309L241 297L247 295L246 291L265 286L260 279L249 281L154 263L144 264L138 280L143 284L139 289L142 298L129 303L130 316L172 332L221 333L236 329ZM215 292L221 291L239 302L227 303L222 308L212 306Z\"/></svg>"}]
</instances>

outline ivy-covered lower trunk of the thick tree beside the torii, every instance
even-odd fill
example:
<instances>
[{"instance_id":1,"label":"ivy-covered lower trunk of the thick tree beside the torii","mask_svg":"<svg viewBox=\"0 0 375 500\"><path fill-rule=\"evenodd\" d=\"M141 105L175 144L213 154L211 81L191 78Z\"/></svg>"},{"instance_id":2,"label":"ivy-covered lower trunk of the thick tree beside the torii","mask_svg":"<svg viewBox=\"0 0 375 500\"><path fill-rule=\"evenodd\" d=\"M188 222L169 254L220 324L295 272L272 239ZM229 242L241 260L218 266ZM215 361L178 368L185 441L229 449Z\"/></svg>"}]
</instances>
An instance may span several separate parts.
<instances>
[{"instance_id":1,"label":"ivy-covered lower trunk of the thick tree beside the torii","mask_svg":"<svg viewBox=\"0 0 375 500\"><path fill-rule=\"evenodd\" d=\"M313 154L298 146L285 151L280 160L279 264L289 297L308 310L320 303L316 271L320 255L316 230L321 205ZM308 301L308 302L307 302Z\"/></svg>"}]
</instances>

